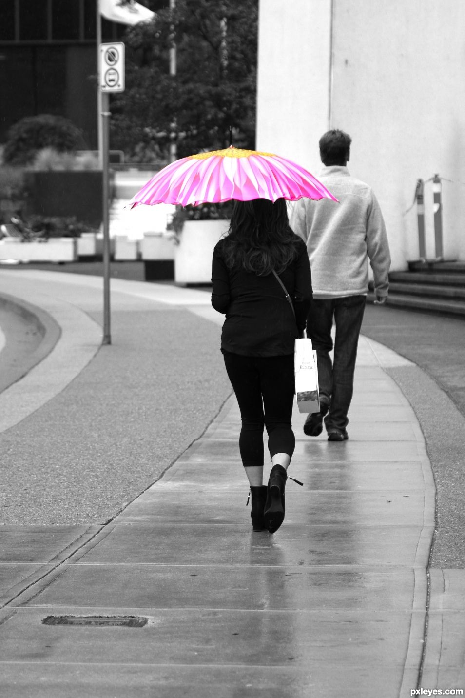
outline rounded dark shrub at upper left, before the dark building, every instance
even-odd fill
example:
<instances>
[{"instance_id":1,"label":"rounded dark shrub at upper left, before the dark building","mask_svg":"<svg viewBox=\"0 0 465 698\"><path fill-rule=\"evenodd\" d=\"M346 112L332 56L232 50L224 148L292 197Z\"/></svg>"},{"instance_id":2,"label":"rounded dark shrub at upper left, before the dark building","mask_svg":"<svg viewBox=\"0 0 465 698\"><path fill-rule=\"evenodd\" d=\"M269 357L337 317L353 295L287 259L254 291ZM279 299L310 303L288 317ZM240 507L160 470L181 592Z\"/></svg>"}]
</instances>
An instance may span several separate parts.
<instances>
[{"instance_id":1,"label":"rounded dark shrub at upper left, before the dark building","mask_svg":"<svg viewBox=\"0 0 465 698\"><path fill-rule=\"evenodd\" d=\"M26 117L8 131L3 149L3 162L9 165L27 165L38 150L52 147L56 151L75 151L83 147L82 134L69 119L39 114Z\"/></svg>"}]
</instances>

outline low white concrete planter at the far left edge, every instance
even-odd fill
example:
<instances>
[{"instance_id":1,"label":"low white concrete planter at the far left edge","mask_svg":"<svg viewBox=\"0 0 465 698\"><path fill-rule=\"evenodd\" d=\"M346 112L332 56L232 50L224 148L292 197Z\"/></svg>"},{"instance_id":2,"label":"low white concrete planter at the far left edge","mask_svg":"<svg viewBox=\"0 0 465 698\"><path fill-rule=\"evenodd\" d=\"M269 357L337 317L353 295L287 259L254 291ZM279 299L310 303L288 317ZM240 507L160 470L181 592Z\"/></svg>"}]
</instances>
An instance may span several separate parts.
<instances>
[{"instance_id":1,"label":"low white concrete planter at the far left edge","mask_svg":"<svg viewBox=\"0 0 465 698\"><path fill-rule=\"evenodd\" d=\"M0 240L0 260L18 262L75 262L74 237L51 237L49 240L18 242L15 237Z\"/></svg>"}]
</instances>

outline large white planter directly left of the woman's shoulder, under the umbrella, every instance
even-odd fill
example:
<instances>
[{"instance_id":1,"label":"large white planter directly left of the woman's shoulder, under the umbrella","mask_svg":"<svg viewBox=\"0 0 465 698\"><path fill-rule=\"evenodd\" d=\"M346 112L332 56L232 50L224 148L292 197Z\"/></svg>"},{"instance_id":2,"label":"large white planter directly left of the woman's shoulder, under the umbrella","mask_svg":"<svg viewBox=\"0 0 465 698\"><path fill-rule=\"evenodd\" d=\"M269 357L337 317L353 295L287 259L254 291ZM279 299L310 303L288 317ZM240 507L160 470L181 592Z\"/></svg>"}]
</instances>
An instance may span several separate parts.
<instances>
[{"instance_id":1,"label":"large white planter directly left of the woman's shoulder, under the umbrella","mask_svg":"<svg viewBox=\"0 0 465 698\"><path fill-rule=\"evenodd\" d=\"M176 283L211 283L213 248L229 221L186 221L174 254Z\"/></svg>"}]
</instances>

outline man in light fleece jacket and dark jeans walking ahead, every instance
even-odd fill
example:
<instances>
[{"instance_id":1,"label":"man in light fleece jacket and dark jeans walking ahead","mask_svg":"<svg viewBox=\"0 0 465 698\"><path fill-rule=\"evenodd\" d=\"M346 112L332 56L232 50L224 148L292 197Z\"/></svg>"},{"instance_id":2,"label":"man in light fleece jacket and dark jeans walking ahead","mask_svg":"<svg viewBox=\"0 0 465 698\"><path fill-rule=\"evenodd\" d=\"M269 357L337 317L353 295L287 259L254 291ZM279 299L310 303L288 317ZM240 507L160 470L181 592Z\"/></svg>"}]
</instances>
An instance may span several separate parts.
<instances>
[{"instance_id":1,"label":"man in light fleece jacket and dark jeans walking ahead","mask_svg":"<svg viewBox=\"0 0 465 698\"><path fill-rule=\"evenodd\" d=\"M346 167L351 137L334 129L321 137L319 147L325 165L319 180L339 203L300 199L291 216L291 228L307 243L312 269L307 336L317 350L320 389L321 411L307 417L303 431L307 436L319 436L325 417L328 441L344 441L349 438L347 413L368 293L368 262L373 269L375 302L383 304L388 297L390 252L386 225L371 187L351 177Z\"/></svg>"}]
</instances>

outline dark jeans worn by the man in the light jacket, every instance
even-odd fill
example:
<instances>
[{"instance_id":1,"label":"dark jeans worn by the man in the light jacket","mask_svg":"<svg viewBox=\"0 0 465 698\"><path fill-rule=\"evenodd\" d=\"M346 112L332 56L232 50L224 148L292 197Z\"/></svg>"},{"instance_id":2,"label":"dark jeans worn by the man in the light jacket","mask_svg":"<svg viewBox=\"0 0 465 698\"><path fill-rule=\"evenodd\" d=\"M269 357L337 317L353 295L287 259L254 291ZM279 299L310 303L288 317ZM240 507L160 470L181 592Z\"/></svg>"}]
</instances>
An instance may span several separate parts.
<instances>
[{"instance_id":1,"label":"dark jeans worn by the man in the light jacket","mask_svg":"<svg viewBox=\"0 0 465 698\"><path fill-rule=\"evenodd\" d=\"M366 296L313 299L307 315L307 336L317 350L320 396L326 395L330 409L326 430L344 431L353 394L358 337L362 327ZM335 322L334 362L331 328Z\"/></svg>"}]
</instances>

